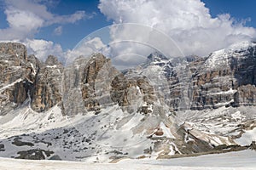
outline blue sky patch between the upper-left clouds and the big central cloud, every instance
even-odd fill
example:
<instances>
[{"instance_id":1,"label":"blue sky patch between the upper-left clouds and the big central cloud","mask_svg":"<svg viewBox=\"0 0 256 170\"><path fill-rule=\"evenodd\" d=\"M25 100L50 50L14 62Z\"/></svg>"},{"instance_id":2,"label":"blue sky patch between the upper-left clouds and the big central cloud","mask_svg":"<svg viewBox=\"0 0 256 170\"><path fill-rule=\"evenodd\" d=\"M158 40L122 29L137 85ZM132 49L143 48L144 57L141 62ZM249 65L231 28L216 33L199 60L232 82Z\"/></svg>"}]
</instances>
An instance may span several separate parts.
<instances>
[{"instance_id":1,"label":"blue sky patch between the upper-left clouds and the big central cloud","mask_svg":"<svg viewBox=\"0 0 256 170\"><path fill-rule=\"evenodd\" d=\"M37 38L46 38L48 40L61 43L62 48L74 48L75 45L85 36L93 31L96 31L104 26L112 24L111 20L107 20L106 16L102 14L97 8L98 1L96 0L63 0L53 8L50 8L52 13L56 14L73 14L77 10L84 10L91 15L91 19L80 20L76 24L63 25L63 32L61 36L53 34L56 26L49 26L43 28L37 35Z\"/></svg>"}]
</instances>

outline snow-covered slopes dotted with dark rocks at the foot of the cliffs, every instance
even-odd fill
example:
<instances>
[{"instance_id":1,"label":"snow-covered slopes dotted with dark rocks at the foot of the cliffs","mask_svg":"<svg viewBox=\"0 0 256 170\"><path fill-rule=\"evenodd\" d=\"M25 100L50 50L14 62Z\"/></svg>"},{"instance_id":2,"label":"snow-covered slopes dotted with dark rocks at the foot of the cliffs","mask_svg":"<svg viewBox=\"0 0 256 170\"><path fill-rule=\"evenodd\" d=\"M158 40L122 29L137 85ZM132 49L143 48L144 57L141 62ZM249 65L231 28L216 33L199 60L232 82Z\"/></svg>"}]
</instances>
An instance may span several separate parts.
<instances>
[{"instance_id":1,"label":"snow-covered slopes dotted with dark rocks at the foot of the cliffs","mask_svg":"<svg viewBox=\"0 0 256 170\"><path fill-rule=\"evenodd\" d=\"M222 107L206 112L189 111L183 115L178 113L179 117L176 118L186 121L183 126L193 136L211 144L249 145L256 140L253 122L248 122L245 129L238 125L246 119L254 120L254 111L255 107L240 107L239 110ZM119 156L156 158L165 150L159 148L150 154L144 152L145 149L154 148L154 140L149 140L149 134L144 133L145 129L150 128L155 132L158 127L163 134L156 136L152 133L152 136L171 139L169 146L166 146L168 156L174 155L176 151L180 153L183 146L176 143L175 129L170 130L159 119L160 116L149 117L150 119L142 123L143 117L142 114L126 116L117 105L102 110L98 115L89 112L84 116L69 118L61 114L58 106L44 113L37 113L24 106L6 116L0 116L0 144L3 145L0 156L19 157L20 151L34 150L33 154L36 154L35 150L40 149L43 154L47 150L52 151L49 156L44 156L45 159L58 156L64 161L103 163L118 159ZM186 143L195 141L189 138L189 133L185 134ZM234 141L230 140L229 136L240 133L241 136L234 136ZM33 156L32 153L27 155Z\"/></svg>"}]
</instances>

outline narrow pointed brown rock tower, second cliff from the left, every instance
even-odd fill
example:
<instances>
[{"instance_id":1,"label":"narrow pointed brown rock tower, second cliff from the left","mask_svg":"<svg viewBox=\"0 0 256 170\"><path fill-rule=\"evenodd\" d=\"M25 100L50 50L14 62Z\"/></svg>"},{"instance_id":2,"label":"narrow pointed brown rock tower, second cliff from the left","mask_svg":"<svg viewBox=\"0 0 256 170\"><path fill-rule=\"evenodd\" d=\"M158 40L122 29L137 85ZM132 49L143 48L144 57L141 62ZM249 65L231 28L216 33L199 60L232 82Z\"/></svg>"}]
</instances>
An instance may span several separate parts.
<instances>
[{"instance_id":1,"label":"narrow pointed brown rock tower, second cliff from the left","mask_svg":"<svg viewBox=\"0 0 256 170\"><path fill-rule=\"evenodd\" d=\"M39 66L32 88L31 106L34 111L47 111L60 104L62 72L63 65L52 55Z\"/></svg>"}]
</instances>

